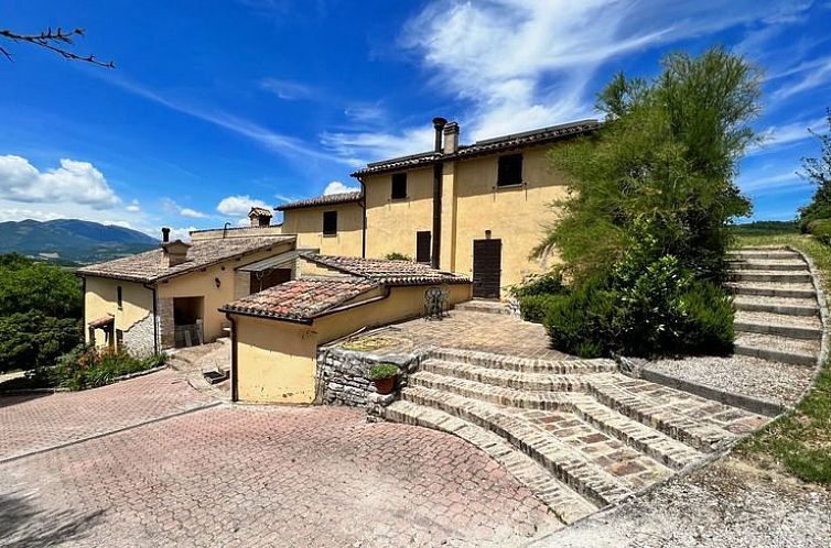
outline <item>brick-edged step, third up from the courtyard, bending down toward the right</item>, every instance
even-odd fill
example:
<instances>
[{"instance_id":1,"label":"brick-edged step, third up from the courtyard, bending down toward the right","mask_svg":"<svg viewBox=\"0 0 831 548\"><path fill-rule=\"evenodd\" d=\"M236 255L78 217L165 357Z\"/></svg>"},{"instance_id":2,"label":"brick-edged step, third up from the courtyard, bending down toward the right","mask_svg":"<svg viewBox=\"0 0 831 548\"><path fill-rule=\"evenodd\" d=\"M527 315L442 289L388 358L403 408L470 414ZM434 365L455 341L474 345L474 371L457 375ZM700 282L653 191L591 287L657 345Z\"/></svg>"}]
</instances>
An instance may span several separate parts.
<instances>
[{"instance_id":1,"label":"brick-edged step, third up from the courtyard, bending down toward the right","mask_svg":"<svg viewBox=\"0 0 831 548\"><path fill-rule=\"evenodd\" d=\"M673 469L681 469L701 458L701 453L691 447L609 409L584 394L519 391L425 371L411 375L410 384L503 406L572 413L597 430Z\"/></svg>"}]
</instances>

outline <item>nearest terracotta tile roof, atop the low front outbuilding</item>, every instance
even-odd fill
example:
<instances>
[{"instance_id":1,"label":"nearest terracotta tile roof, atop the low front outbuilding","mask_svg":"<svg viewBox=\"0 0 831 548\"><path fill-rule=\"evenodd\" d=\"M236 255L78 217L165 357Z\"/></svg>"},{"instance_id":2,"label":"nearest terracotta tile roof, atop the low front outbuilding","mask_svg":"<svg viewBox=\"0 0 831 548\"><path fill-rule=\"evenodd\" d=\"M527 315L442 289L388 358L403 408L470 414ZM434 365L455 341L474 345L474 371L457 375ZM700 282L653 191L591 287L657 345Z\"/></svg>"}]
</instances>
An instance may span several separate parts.
<instances>
[{"instance_id":1,"label":"nearest terracotta tile roof, atop the low front outbuilding","mask_svg":"<svg viewBox=\"0 0 831 548\"><path fill-rule=\"evenodd\" d=\"M380 287L375 280L306 276L229 303L222 311L311 324L350 298Z\"/></svg>"}]
</instances>

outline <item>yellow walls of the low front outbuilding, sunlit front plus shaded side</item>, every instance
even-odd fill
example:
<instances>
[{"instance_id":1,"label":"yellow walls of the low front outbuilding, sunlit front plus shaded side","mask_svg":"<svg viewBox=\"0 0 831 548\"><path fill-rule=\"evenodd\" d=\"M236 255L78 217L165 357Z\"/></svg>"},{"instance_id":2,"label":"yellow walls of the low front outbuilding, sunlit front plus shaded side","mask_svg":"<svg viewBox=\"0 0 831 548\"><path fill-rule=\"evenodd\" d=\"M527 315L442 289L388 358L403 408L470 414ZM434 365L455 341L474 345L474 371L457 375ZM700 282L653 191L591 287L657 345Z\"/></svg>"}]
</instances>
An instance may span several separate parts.
<instances>
[{"instance_id":1,"label":"yellow walls of the low front outbuilding, sunlit front plus shaded side","mask_svg":"<svg viewBox=\"0 0 831 548\"><path fill-rule=\"evenodd\" d=\"M235 315L237 326L238 397L246 402L312 403L316 393L317 346L364 327L382 326L421 316L428 285L391 287L356 299L366 302L315 319L312 325ZM450 302L471 298L470 284L450 286Z\"/></svg>"}]
</instances>

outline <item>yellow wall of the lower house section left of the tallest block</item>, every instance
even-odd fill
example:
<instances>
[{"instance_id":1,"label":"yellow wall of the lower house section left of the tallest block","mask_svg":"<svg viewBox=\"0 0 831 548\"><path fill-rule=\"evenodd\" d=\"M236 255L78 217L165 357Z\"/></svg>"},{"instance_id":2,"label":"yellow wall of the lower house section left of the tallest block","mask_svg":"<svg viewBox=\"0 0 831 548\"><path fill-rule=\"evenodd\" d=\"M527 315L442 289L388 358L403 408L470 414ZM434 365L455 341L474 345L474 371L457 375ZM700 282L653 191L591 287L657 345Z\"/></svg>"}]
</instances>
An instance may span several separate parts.
<instances>
[{"instance_id":1,"label":"yellow wall of the lower house section left of the tallest block","mask_svg":"<svg viewBox=\"0 0 831 548\"><path fill-rule=\"evenodd\" d=\"M337 234L323 234L324 211L337 211ZM283 212L283 233L298 234L298 248L317 248L324 255L360 256L363 228L364 210L358 202Z\"/></svg>"}]
</instances>

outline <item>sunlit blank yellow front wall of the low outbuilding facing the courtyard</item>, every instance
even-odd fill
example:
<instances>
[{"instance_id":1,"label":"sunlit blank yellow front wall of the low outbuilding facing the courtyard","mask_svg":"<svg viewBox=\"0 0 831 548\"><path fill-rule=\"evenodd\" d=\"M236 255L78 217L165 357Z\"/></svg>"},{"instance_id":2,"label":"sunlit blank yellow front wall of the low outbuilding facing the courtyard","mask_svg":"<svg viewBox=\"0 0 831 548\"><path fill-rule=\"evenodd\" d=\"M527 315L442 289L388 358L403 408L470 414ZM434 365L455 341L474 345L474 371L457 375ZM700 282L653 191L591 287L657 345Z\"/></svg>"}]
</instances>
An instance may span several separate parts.
<instances>
[{"instance_id":1,"label":"sunlit blank yellow front wall of the low outbuilding facing the courtyard","mask_svg":"<svg viewBox=\"0 0 831 548\"><path fill-rule=\"evenodd\" d=\"M238 316L236 327L239 399L314 401L317 333L312 326Z\"/></svg>"}]
</instances>

